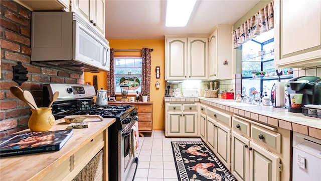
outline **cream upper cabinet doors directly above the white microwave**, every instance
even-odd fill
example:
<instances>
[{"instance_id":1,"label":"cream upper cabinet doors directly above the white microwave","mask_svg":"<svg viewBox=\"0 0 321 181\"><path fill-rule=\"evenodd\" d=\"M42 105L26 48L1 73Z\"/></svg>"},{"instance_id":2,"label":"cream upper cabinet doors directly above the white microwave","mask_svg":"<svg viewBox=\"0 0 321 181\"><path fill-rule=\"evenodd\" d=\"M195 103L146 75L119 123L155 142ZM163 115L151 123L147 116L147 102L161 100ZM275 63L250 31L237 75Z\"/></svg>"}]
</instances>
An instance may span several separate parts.
<instances>
[{"instance_id":1,"label":"cream upper cabinet doors directly above the white microwave","mask_svg":"<svg viewBox=\"0 0 321 181\"><path fill-rule=\"evenodd\" d=\"M73 12L105 36L105 0L73 0L72 5Z\"/></svg>"}]
</instances>

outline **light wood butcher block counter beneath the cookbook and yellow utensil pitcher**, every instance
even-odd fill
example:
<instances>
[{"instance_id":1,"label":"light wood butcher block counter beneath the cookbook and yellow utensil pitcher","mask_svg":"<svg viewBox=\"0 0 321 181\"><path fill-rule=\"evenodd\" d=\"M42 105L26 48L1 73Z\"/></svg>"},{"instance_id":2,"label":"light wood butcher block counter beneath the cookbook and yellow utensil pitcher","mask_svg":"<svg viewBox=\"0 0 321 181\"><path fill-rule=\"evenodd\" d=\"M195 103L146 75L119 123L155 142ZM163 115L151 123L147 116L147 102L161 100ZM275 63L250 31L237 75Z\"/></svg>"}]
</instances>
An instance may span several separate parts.
<instances>
[{"instance_id":1,"label":"light wood butcher block counter beneath the cookbook and yellow utensil pitcher","mask_svg":"<svg viewBox=\"0 0 321 181\"><path fill-rule=\"evenodd\" d=\"M89 118L89 128L74 129L73 135L59 151L33 153L0 158L0 180L71 180L93 158L103 150L104 163L108 163L108 127L115 119ZM68 124L64 119L55 121L49 130L64 130ZM23 130L30 132L30 129ZM98 140L98 141L96 141ZM91 144L94 144L94 148ZM81 155L74 158L74 155ZM103 178L108 180L108 164Z\"/></svg>"}]
</instances>

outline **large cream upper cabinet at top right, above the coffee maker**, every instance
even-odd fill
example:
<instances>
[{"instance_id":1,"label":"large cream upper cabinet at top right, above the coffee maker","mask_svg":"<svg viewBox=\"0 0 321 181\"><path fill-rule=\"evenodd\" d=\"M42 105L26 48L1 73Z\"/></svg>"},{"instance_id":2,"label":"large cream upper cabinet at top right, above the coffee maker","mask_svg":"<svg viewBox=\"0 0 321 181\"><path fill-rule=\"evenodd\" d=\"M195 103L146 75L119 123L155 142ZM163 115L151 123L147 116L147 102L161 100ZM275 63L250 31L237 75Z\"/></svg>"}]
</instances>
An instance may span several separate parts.
<instances>
[{"instance_id":1,"label":"large cream upper cabinet at top right, above the coffee maker","mask_svg":"<svg viewBox=\"0 0 321 181\"><path fill-rule=\"evenodd\" d=\"M321 1L274 1L276 67L321 65Z\"/></svg>"}]
</instances>

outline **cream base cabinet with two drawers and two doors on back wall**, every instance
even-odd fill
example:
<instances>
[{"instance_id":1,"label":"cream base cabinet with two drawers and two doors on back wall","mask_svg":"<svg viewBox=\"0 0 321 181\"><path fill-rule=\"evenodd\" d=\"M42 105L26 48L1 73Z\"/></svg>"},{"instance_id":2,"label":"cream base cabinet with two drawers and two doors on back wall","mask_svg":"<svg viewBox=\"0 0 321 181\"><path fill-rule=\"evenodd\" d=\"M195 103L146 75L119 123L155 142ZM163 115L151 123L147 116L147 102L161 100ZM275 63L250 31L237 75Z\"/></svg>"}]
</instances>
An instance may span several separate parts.
<instances>
[{"instance_id":1,"label":"cream base cabinet with two drawers and two doors on back wall","mask_svg":"<svg viewBox=\"0 0 321 181\"><path fill-rule=\"evenodd\" d=\"M166 136L198 136L198 104L166 103Z\"/></svg>"}]
</instances>

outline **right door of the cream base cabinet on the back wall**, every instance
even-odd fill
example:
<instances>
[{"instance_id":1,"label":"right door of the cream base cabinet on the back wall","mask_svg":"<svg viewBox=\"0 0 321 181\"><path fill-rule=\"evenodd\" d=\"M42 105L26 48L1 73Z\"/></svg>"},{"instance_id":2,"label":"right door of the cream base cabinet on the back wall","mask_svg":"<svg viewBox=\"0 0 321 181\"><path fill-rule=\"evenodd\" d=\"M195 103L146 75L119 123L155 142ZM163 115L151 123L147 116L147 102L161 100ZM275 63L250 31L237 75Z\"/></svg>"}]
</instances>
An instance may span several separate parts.
<instances>
[{"instance_id":1,"label":"right door of the cream base cabinet on the back wall","mask_svg":"<svg viewBox=\"0 0 321 181\"><path fill-rule=\"evenodd\" d=\"M184 136L197 136L197 112L184 113L183 112L183 135Z\"/></svg>"}]
</instances>

